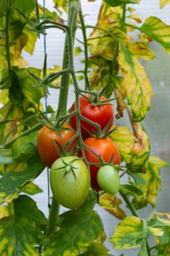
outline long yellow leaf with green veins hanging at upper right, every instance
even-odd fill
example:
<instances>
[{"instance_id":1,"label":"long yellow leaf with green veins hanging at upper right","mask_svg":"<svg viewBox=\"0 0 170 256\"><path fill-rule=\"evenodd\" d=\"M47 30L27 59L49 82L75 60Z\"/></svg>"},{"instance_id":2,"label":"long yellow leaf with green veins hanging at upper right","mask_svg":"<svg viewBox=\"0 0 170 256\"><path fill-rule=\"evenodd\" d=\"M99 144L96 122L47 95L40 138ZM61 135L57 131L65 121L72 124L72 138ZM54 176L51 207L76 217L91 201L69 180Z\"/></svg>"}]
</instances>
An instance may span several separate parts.
<instances>
[{"instance_id":1,"label":"long yellow leaf with green veins hanging at upper right","mask_svg":"<svg viewBox=\"0 0 170 256\"><path fill-rule=\"evenodd\" d=\"M120 44L119 64L124 77L128 104L132 109L133 121L140 122L146 116L151 104L151 96L153 95L151 84L144 67L124 44Z\"/></svg>"}]
</instances>

